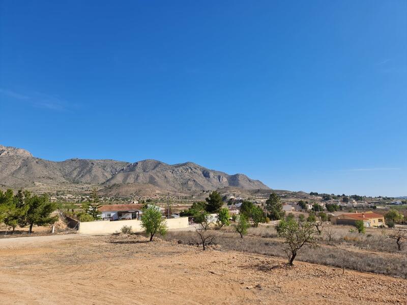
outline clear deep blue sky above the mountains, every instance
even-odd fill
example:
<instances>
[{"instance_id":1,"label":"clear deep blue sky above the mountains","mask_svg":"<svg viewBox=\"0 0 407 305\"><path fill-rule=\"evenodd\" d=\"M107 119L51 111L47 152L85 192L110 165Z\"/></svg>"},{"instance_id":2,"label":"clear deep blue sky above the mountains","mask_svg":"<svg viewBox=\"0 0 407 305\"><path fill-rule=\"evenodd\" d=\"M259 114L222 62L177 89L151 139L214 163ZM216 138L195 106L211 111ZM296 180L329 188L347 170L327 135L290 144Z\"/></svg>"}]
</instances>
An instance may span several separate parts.
<instances>
[{"instance_id":1,"label":"clear deep blue sky above the mountains","mask_svg":"<svg viewBox=\"0 0 407 305\"><path fill-rule=\"evenodd\" d=\"M407 196L405 0L0 9L0 144Z\"/></svg>"}]
</instances>

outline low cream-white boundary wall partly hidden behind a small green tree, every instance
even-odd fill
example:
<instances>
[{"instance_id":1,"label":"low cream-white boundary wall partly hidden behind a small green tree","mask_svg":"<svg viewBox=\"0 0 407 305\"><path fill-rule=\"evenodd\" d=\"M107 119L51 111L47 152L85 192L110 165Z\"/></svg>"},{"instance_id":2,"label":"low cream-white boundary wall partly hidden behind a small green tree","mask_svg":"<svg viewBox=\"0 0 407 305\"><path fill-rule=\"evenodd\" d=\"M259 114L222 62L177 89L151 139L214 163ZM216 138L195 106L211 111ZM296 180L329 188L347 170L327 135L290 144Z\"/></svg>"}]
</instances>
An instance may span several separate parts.
<instances>
[{"instance_id":1,"label":"low cream-white boundary wall partly hidden behind a small green tree","mask_svg":"<svg viewBox=\"0 0 407 305\"><path fill-rule=\"evenodd\" d=\"M188 228L188 217L171 218L165 220L168 230ZM123 226L131 226L133 232L141 232L141 221L118 220L118 221L90 221L79 223L79 234L106 234L120 232Z\"/></svg>"}]
</instances>

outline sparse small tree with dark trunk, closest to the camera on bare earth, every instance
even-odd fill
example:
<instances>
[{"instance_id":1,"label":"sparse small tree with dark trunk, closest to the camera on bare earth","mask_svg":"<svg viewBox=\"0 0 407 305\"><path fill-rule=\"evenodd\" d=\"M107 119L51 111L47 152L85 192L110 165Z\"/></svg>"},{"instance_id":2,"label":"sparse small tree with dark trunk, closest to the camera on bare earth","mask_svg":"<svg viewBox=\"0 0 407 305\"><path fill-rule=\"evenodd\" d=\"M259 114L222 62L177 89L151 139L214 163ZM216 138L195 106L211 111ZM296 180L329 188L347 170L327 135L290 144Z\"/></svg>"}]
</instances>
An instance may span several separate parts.
<instances>
[{"instance_id":1,"label":"sparse small tree with dark trunk, closest to the camera on bare earth","mask_svg":"<svg viewBox=\"0 0 407 305\"><path fill-rule=\"evenodd\" d=\"M310 223L298 223L295 220L281 220L279 223L279 234L284 238L284 252L288 257L288 264L293 265L298 251L304 245L311 248L317 247L315 239L315 228Z\"/></svg>"}]
</instances>

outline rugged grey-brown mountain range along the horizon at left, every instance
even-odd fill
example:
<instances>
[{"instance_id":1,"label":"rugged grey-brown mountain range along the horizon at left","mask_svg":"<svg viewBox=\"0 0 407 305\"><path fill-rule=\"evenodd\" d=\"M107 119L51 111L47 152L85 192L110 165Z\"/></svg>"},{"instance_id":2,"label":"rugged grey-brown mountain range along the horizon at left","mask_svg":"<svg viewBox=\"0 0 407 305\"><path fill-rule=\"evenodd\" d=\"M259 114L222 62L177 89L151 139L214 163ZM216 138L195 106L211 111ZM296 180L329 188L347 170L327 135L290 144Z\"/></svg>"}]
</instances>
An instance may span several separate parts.
<instances>
[{"instance_id":1,"label":"rugged grey-brown mountain range along the horizon at left","mask_svg":"<svg viewBox=\"0 0 407 305\"><path fill-rule=\"evenodd\" d=\"M0 145L0 187L40 191L75 189L90 185L115 190L152 188L161 192L196 192L237 187L269 188L244 174L229 175L192 162L166 164L156 160L135 163L115 160L69 159L61 162L34 157L29 151ZM131 193L131 192L130 192Z\"/></svg>"}]
</instances>

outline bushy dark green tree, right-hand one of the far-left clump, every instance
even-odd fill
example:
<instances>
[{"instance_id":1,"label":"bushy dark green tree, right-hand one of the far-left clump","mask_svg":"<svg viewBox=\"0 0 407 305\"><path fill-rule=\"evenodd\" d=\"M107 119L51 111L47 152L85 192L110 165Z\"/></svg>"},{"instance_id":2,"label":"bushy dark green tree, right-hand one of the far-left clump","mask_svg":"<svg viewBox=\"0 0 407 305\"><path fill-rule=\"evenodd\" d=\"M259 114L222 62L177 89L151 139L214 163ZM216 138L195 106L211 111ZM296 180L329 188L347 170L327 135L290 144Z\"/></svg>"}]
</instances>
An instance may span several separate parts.
<instances>
[{"instance_id":1,"label":"bushy dark green tree, right-hand one of the far-left clump","mask_svg":"<svg viewBox=\"0 0 407 305\"><path fill-rule=\"evenodd\" d=\"M56 209L56 205L49 202L47 195L25 196L24 201L27 205L26 222L29 226L28 233L33 232L33 225L44 226L53 224L58 220L57 216L51 216L51 213Z\"/></svg>"}]
</instances>

